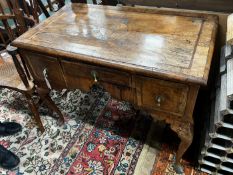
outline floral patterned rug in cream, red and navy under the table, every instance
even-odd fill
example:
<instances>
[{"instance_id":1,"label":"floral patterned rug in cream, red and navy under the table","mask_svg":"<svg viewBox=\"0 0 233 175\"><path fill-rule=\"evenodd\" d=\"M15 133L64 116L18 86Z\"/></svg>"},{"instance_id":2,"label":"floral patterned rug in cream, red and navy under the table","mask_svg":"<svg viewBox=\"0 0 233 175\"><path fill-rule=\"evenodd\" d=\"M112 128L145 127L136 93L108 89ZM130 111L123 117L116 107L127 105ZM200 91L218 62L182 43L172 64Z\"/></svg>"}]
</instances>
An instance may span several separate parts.
<instances>
[{"instance_id":1,"label":"floral patterned rug in cream, red and navy under the table","mask_svg":"<svg viewBox=\"0 0 233 175\"><path fill-rule=\"evenodd\" d=\"M51 118L55 114L42 106L46 131L41 134L25 98L0 90L0 121L17 121L23 126L21 133L0 138L0 144L21 160L13 171L0 168L1 175L175 174L169 150L160 143L164 123L152 122L142 112L136 115L130 104L111 99L99 87L87 94L53 91L51 97L66 121L58 126Z\"/></svg>"}]
</instances>

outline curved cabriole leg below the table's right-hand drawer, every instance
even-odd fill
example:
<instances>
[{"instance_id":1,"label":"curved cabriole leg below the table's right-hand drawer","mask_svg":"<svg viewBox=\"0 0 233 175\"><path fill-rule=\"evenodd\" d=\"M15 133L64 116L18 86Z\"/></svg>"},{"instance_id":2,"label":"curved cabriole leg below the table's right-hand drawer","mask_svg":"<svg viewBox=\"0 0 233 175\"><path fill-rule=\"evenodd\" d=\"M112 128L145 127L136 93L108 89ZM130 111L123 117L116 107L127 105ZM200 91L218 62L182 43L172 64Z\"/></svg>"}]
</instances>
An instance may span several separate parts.
<instances>
[{"instance_id":1,"label":"curved cabriole leg below the table's right-hand drawer","mask_svg":"<svg viewBox=\"0 0 233 175\"><path fill-rule=\"evenodd\" d=\"M178 134L179 138L181 139L179 148L176 153L176 161L174 164L174 170L176 171L176 173L182 174L184 171L183 171L182 165L180 164L180 161L184 153L187 151L187 149L192 143L193 124L189 122L174 122L171 125L171 129L175 131Z\"/></svg>"}]
</instances>

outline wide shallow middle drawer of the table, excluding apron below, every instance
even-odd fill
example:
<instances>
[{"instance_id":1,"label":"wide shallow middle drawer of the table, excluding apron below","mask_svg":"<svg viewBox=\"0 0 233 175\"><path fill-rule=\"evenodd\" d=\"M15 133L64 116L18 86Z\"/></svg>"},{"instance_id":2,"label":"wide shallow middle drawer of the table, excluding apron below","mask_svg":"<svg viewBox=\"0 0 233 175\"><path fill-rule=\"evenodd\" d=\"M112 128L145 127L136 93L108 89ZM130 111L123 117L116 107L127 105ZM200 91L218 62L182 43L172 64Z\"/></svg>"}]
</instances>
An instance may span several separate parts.
<instances>
[{"instance_id":1,"label":"wide shallow middle drawer of the table, excluding apron below","mask_svg":"<svg viewBox=\"0 0 233 175\"><path fill-rule=\"evenodd\" d=\"M131 84L131 76L124 72L64 60L61 63L67 84L71 87L77 82L69 81L68 77L86 79L91 83L98 81L125 87L130 87Z\"/></svg>"}]
</instances>

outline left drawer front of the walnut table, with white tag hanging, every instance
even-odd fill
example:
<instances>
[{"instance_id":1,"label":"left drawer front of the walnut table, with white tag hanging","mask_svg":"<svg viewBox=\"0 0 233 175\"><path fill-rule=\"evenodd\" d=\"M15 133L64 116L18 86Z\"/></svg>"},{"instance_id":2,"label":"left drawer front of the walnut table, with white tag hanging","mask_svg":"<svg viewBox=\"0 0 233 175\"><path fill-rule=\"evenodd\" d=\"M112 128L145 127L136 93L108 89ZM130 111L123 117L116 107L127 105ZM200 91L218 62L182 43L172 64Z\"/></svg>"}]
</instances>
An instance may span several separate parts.
<instances>
[{"instance_id":1,"label":"left drawer front of the walnut table, with white tag hanging","mask_svg":"<svg viewBox=\"0 0 233 175\"><path fill-rule=\"evenodd\" d=\"M34 52L23 52L26 58L34 80L41 86L46 86L45 76L53 89L66 88L63 78L62 68L55 57L46 56Z\"/></svg>"}]
</instances>

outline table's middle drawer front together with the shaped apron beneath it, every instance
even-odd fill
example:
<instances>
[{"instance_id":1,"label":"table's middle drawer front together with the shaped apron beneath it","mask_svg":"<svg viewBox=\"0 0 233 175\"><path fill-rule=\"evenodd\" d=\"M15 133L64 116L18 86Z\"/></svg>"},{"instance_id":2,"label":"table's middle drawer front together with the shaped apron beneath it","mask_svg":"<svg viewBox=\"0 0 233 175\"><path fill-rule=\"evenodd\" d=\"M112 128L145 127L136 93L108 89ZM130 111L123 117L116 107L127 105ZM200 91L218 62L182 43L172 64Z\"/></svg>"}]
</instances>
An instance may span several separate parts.
<instances>
[{"instance_id":1,"label":"table's middle drawer front together with the shaped apron beneath it","mask_svg":"<svg viewBox=\"0 0 233 175\"><path fill-rule=\"evenodd\" d=\"M61 64L69 88L89 91L97 81L114 98L133 102L134 90L130 88L131 76L129 74L65 60L61 61Z\"/></svg>"}]
</instances>

